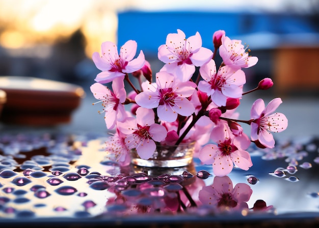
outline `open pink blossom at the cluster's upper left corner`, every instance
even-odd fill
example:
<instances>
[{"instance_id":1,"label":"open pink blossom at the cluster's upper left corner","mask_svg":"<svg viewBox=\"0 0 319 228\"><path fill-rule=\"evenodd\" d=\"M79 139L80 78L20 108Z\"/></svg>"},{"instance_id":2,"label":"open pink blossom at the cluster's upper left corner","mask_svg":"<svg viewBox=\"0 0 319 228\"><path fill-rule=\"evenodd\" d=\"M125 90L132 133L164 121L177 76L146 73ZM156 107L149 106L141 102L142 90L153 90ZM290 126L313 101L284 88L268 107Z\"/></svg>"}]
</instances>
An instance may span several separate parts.
<instances>
[{"instance_id":1,"label":"open pink blossom at the cluster's upper left corner","mask_svg":"<svg viewBox=\"0 0 319 228\"><path fill-rule=\"evenodd\" d=\"M111 82L114 78L124 79L125 73L132 73L141 69L145 62L143 51L133 60L137 51L137 43L134 40L127 41L118 54L117 46L110 41L103 42L101 53L94 52L92 60L95 66L101 70L95 81L100 83Z\"/></svg>"}]
</instances>

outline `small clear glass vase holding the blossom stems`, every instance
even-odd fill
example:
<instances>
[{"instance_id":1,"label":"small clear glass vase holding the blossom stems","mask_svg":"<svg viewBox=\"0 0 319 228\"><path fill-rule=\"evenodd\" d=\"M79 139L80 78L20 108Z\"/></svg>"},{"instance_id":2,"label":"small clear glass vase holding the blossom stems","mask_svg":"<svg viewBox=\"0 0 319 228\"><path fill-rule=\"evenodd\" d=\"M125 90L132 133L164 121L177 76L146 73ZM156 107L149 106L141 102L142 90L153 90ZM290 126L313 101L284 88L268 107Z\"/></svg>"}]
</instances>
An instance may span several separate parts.
<instances>
[{"instance_id":1,"label":"small clear glass vase holding the blossom stems","mask_svg":"<svg viewBox=\"0 0 319 228\"><path fill-rule=\"evenodd\" d=\"M136 149L131 150L131 163L143 167L182 167L193 160L195 141L178 146L157 145L152 157L142 159Z\"/></svg>"}]
</instances>

